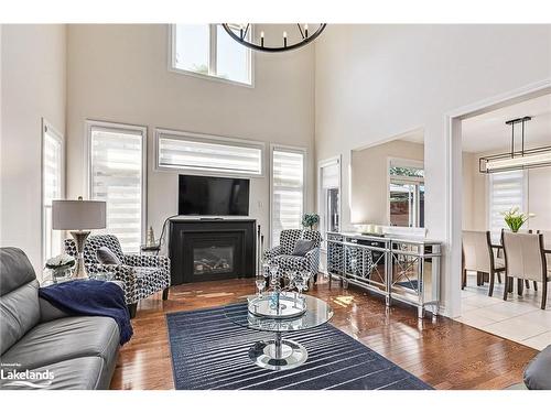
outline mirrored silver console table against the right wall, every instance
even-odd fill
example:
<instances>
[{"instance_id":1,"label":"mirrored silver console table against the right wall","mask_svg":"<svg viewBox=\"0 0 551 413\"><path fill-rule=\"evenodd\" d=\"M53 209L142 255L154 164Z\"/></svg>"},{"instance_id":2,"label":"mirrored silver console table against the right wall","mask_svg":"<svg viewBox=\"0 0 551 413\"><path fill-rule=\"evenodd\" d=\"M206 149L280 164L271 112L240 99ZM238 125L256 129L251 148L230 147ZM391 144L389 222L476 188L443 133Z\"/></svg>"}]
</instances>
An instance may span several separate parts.
<instances>
[{"instance_id":1,"label":"mirrored silver console table against the right wall","mask_svg":"<svg viewBox=\"0 0 551 413\"><path fill-rule=\"evenodd\" d=\"M387 306L400 301L430 308L436 316L440 303L441 242L327 232L327 272L343 285L358 285L385 296Z\"/></svg>"}]
</instances>

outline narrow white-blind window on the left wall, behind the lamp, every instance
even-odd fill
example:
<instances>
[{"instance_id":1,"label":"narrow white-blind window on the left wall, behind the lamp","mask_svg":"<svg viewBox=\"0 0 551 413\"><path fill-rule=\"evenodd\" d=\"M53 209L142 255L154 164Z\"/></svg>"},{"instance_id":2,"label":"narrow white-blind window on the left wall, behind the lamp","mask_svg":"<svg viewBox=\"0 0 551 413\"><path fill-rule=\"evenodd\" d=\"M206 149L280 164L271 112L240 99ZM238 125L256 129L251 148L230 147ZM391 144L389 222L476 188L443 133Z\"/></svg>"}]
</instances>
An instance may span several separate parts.
<instances>
[{"instance_id":1,"label":"narrow white-blind window on the left wall, behind the lamp","mask_svg":"<svg viewBox=\"0 0 551 413\"><path fill-rule=\"evenodd\" d=\"M62 252L62 231L52 229L52 200L64 198L64 142L47 122L42 130L42 258Z\"/></svg>"}]
</instances>

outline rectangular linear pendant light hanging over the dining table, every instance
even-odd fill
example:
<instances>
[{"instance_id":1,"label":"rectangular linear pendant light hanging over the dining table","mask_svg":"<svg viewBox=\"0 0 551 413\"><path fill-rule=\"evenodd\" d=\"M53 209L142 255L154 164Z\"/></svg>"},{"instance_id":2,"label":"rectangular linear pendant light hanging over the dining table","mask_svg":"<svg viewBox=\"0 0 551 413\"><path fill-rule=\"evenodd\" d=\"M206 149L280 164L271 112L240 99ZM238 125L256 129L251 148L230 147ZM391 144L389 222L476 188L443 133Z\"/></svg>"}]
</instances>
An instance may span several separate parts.
<instances>
[{"instance_id":1,"label":"rectangular linear pendant light hanging over the dining table","mask_svg":"<svg viewBox=\"0 0 551 413\"><path fill-rule=\"evenodd\" d=\"M511 127L511 151L480 157L478 160L478 171L480 173L490 174L494 172L551 166L551 146L525 150L525 123L531 119L531 117L526 116L505 122ZM521 123L522 126L522 143L520 151L515 151L515 124L517 123Z\"/></svg>"}]
</instances>

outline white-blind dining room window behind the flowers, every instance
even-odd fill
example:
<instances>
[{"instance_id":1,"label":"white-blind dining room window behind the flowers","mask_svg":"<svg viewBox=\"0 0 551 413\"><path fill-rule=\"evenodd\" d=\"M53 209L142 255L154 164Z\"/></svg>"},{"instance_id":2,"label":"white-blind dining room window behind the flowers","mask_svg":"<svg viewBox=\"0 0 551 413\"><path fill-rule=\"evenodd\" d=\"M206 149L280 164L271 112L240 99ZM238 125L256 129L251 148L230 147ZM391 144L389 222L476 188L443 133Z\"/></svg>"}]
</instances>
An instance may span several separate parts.
<instances>
[{"instance_id":1,"label":"white-blind dining room window behind the flowers","mask_svg":"<svg viewBox=\"0 0 551 413\"><path fill-rule=\"evenodd\" d=\"M525 171L489 174L488 221L494 238L505 228L503 213L512 207L527 213L527 185Z\"/></svg>"}]
</instances>

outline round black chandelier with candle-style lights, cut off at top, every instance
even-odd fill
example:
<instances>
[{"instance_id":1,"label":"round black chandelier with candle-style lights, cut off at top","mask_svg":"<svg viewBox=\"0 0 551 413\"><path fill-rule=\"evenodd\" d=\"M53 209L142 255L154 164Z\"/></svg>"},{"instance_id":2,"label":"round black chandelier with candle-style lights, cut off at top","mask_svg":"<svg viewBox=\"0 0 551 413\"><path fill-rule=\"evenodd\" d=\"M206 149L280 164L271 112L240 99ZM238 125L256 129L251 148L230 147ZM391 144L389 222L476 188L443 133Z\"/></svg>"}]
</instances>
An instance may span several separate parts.
<instances>
[{"instance_id":1,"label":"round black chandelier with candle-style lights, cut off at top","mask_svg":"<svg viewBox=\"0 0 551 413\"><path fill-rule=\"evenodd\" d=\"M288 42L288 33L283 32L280 46L271 46L271 45L266 46L264 32L260 32L259 44L255 43L255 41L251 40L252 36L250 36L250 31L251 31L250 23L247 24L222 23L224 30L226 30L226 32L230 35L230 37L234 39L236 42L242 44L244 46L252 48L253 51L271 52L271 53L289 52L295 48L303 47L312 43L314 40L316 40L320 36L320 34L322 34L326 25L327 23L321 23L317 25L317 29L313 33L309 33L307 24L296 23L296 30L299 31L299 41L293 43Z\"/></svg>"}]
</instances>

